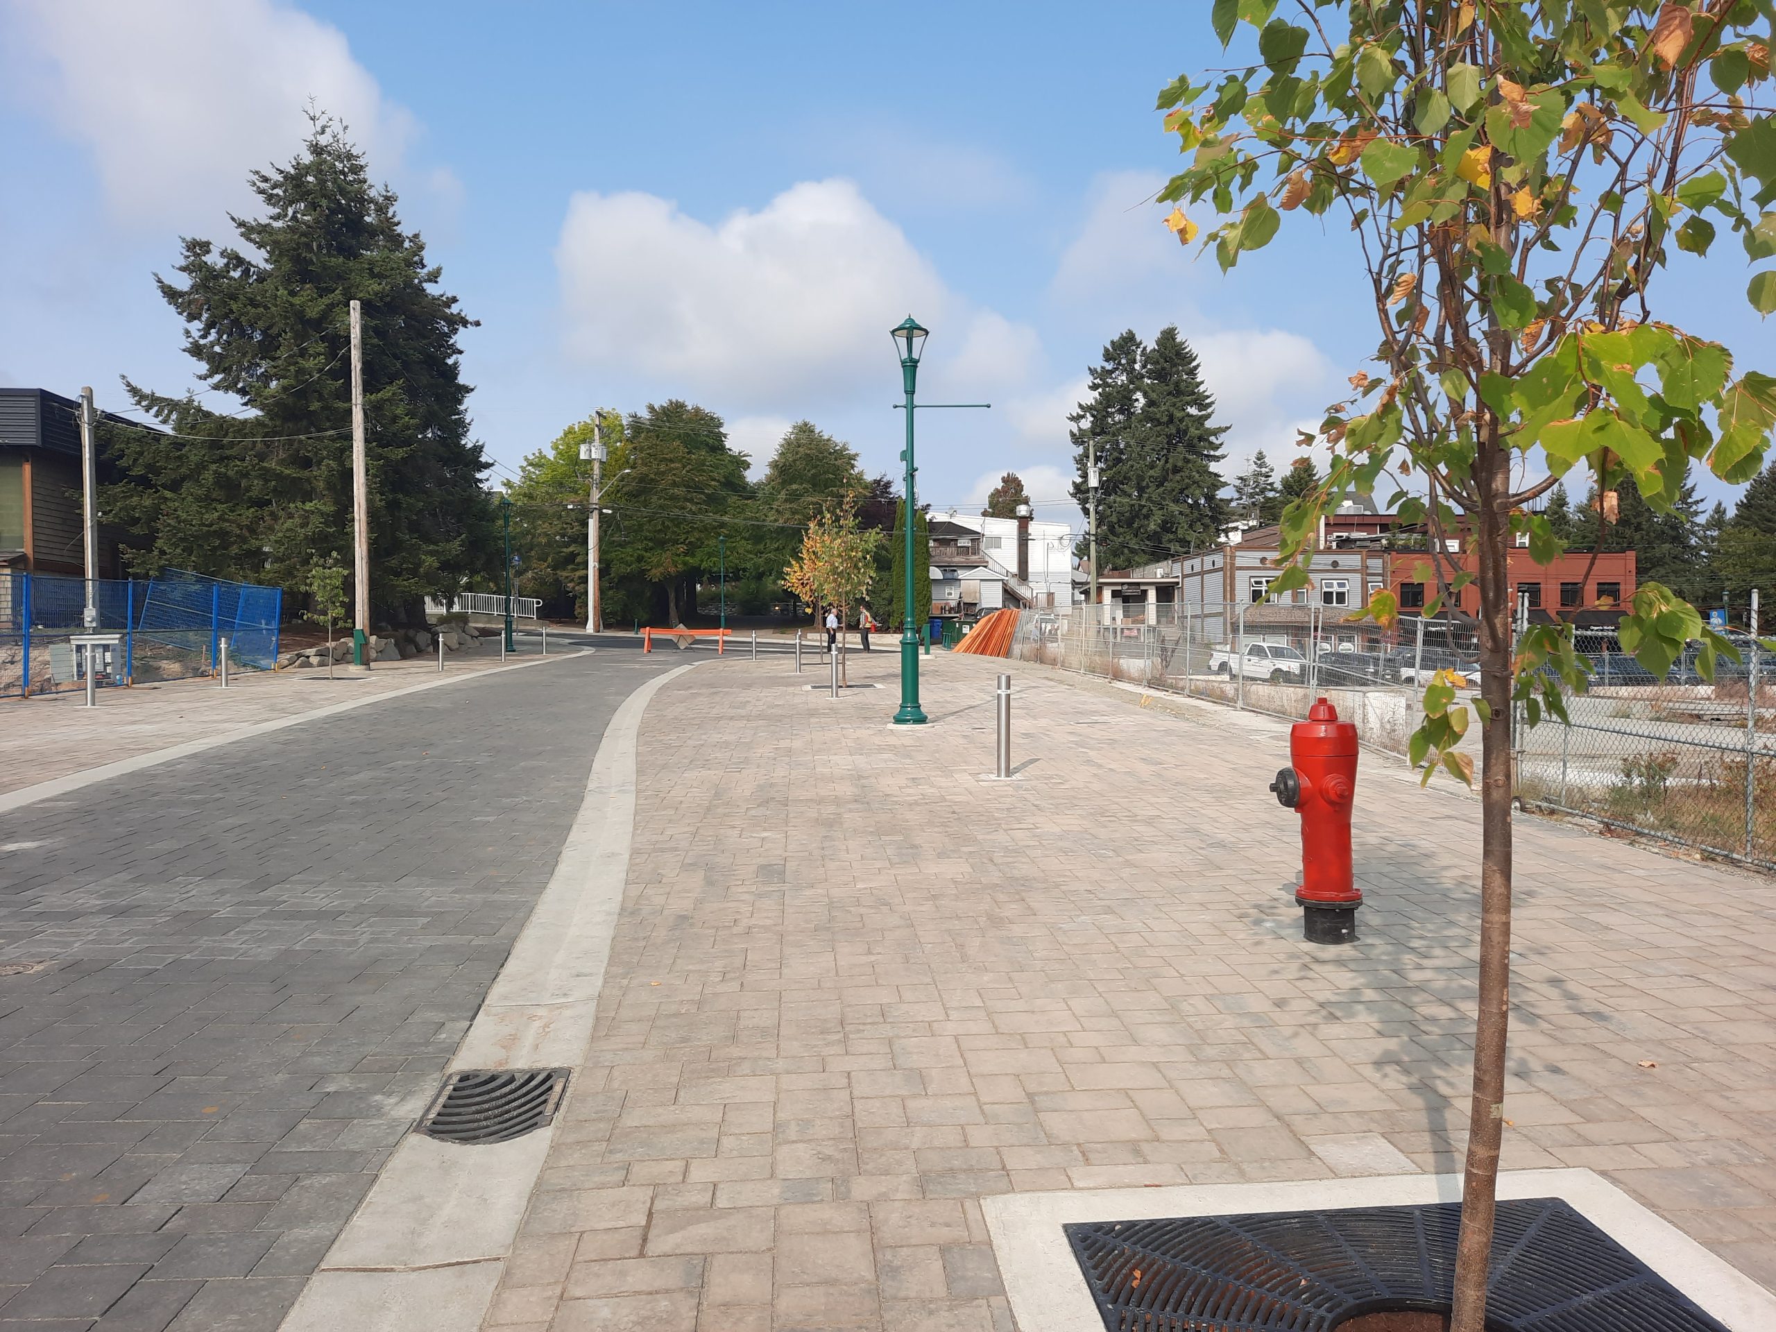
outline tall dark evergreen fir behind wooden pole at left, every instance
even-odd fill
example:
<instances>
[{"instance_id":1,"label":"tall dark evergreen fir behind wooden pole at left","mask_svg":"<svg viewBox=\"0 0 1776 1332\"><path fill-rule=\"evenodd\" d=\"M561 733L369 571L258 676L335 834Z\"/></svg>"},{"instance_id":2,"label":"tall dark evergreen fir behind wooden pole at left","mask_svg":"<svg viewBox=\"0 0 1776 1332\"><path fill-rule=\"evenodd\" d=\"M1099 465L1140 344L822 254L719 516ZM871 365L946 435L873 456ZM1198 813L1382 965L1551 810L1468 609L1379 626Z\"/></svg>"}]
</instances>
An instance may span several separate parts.
<instances>
[{"instance_id":1,"label":"tall dark evergreen fir behind wooden pole at left","mask_svg":"<svg viewBox=\"0 0 1776 1332\"><path fill-rule=\"evenodd\" d=\"M137 570L165 565L304 588L314 565L352 567L348 302L364 305L373 620L407 623L423 599L458 591L499 563L487 462L469 439L456 336L474 325L437 289L417 233L373 186L329 117L302 151L250 174L259 218L233 218L243 245L188 238L162 297L186 321L185 350L226 416L192 396L126 384L169 435L108 428L121 481L107 519L135 535Z\"/></svg>"}]
</instances>

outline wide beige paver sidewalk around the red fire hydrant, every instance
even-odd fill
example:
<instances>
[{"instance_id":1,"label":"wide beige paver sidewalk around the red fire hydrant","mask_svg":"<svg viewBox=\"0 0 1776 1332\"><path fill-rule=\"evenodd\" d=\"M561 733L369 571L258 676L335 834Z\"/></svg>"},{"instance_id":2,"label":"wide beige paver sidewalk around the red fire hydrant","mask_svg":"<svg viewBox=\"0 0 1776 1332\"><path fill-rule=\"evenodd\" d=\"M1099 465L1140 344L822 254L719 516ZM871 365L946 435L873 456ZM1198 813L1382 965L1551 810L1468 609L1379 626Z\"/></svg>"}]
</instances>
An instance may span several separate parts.
<instances>
[{"instance_id":1,"label":"wide beige paver sidewalk around the red fire hydrant","mask_svg":"<svg viewBox=\"0 0 1776 1332\"><path fill-rule=\"evenodd\" d=\"M1362 941L1300 940L1286 728L1011 664L673 682L599 1028L490 1327L1011 1328L979 1199L1456 1170L1471 799L1364 757ZM813 677L821 678L821 677ZM1518 822L1506 1169L1604 1172L1776 1284L1767 879ZM1648 1064L1643 1066L1643 1060Z\"/></svg>"}]
</instances>

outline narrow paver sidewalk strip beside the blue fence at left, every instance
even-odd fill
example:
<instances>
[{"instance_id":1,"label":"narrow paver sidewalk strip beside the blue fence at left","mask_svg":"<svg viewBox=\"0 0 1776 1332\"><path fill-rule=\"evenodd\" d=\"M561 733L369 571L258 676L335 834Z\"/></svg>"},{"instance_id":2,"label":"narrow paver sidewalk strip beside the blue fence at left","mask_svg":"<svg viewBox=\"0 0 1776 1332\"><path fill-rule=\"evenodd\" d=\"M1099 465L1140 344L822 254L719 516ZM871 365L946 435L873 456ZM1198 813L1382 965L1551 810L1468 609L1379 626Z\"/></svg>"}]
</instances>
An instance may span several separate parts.
<instances>
[{"instance_id":1,"label":"narrow paver sidewalk strip beside the blue fence at left","mask_svg":"<svg viewBox=\"0 0 1776 1332\"><path fill-rule=\"evenodd\" d=\"M524 641L524 654L515 654L508 664L535 657L536 639L531 638ZM499 641L487 639L485 646L446 654L444 673L478 673L499 664ZM0 794L435 678L437 657L414 657L377 662L361 677L339 668L332 680L320 668L240 671L227 689L208 678L101 689L96 709L85 707L87 696L78 691L0 698L0 751L7 757L0 762Z\"/></svg>"}]
</instances>

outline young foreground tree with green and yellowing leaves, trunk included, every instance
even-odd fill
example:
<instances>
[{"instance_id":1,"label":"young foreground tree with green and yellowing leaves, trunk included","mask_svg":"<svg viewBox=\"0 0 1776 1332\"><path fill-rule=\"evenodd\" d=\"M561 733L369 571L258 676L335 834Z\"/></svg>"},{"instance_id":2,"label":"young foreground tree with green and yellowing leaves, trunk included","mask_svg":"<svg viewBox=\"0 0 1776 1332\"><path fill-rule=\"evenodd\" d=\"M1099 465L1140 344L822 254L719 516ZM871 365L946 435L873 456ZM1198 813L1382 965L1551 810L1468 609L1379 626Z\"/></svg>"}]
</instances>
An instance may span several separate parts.
<instances>
[{"instance_id":1,"label":"young foreground tree with green and yellowing leaves, trunk included","mask_svg":"<svg viewBox=\"0 0 1776 1332\"><path fill-rule=\"evenodd\" d=\"M1304 565L1327 503L1407 476L1407 520L1471 540L1481 593L1481 691L1424 694L1412 758L1472 780L1456 753L1481 726L1479 1023L1456 1256L1453 1332L1481 1332L1502 1140L1511 929L1513 707L1565 716L1586 664L1565 627L1515 643L1506 556L1563 474L1600 496L1632 476L1655 508L1691 464L1751 478L1776 424L1776 378L1737 369L1726 346L1661 318L1659 277L1684 252L1709 265L1776 256L1776 123L1769 110L1772 0L1215 0L1222 44L1240 25L1257 62L1160 94L1188 165L1162 192L1167 226L1199 234L1222 268L1263 249L1289 211L1348 220L1380 343L1321 433L1325 483L1284 511L1286 572ZM1241 48L1245 37L1241 36ZM1682 263L1693 263L1682 259ZM1776 270L1748 298L1776 309ZM1522 460L1550 476L1513 483ZM1540 471L1540 469L1534 469ZM1465 575L1455 583L1465 581ZM1440 599L1437 599L1440 600ZM1426 613L1435 614L1433 600ZM1621 641L1664 675L1685 641L1701 666L1732 648L1659 583L1645 583ZM1392 597L1368 613L1391 620Z\"/></svg>"}]
</instances>

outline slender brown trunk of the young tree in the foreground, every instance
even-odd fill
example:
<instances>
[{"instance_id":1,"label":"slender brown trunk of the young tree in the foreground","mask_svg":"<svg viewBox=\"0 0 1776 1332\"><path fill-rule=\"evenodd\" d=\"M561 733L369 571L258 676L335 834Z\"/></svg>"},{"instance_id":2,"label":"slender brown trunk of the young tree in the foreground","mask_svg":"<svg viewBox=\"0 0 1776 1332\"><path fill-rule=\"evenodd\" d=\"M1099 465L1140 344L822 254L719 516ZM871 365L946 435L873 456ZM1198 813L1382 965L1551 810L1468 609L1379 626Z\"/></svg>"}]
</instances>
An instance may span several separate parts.
<instances>
[{"instance_id":1,"label":"slender brown trunk of the young tree in the foreground","mask_svg":"<svg viewBox=\"0 0 1776 1332\"><path fill-rule=\"evenodd\" d=\"M1504 1037L1511 979L1511 584L1510 451L1497 423L1479 440L1479 1016L1474 1028L1474 1098L1462 1179L1462 1238L1456 1245L1449 1332L1483 1332L1499 1146L1504 1137Z\"/></svg>"}]
</instances>

